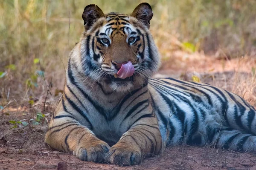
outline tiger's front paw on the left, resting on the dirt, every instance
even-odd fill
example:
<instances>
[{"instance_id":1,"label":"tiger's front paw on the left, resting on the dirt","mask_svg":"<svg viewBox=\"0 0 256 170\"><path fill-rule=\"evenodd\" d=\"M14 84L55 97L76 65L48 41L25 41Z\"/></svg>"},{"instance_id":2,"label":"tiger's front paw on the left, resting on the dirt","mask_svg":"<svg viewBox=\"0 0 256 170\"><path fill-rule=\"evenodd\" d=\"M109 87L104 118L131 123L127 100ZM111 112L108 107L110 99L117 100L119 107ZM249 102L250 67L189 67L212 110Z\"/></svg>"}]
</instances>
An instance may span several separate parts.
<instances>
[{"instance_id":1,"label":"tiger's front paw on the left, resting on the dirt","mask_svg":"<svg viewBox=\"0 0 256 170\"><path fill-rule=\"evenodd\" d=\"M104 141L94 141L89 144L80 144L73 155L82 161L102 162L109 151L109 145Z\"/></svg>"}]
</instances>

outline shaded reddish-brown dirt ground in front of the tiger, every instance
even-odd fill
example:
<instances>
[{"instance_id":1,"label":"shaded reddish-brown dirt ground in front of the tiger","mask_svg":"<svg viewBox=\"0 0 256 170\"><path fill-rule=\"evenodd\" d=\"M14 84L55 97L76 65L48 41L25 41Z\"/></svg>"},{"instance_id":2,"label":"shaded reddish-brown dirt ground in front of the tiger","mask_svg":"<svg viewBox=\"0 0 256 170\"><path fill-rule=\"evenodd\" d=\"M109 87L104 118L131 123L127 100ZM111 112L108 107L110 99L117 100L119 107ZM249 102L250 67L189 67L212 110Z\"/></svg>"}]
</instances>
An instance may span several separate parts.
<instances>
[{"instance_id":1,"label":"shaded reddish-brown dirt ground in front of the tiger","mask_svg":"<svg viewBox=\"0 0 256 170\"><path fill-rule=\"evenodd\" d=\"M256 170L256 154L185 145L167 147L163 155L143 158L142 164L131 167L80 161L44 146L46 124L9 130L8 115L0 118L1 134L8 132L0 136L0 170L54 170L59 162L66 162L68 170Z\"/></svg>"}]
</instances>

